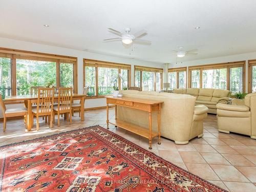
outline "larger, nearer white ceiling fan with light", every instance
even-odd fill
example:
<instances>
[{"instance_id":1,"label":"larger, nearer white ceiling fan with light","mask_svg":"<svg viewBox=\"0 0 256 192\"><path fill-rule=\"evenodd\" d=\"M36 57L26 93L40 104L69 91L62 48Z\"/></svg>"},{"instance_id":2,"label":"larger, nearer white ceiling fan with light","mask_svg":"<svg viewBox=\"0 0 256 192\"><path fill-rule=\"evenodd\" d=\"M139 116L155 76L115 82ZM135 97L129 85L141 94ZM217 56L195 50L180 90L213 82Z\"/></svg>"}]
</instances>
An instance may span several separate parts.
<instances>
[{"instance_id":1,"label":"larger, nearer white ceiling fan with light","mask_svg":"<svg viewBox=\"0 0 256 192\"><path fill-rule=\"evenodd\" d=\"M134 34L130 34L131 29L130 28L125 28L124 31L125 33L121 33L120 31L117 31L115 29L112 28L108 28L109 31L111 33L114 33L116 35L118 35L119 37L116 38L109 38L109 39L103 39L104 41L108 41L108 40L122 40L122 42L126 45L132 44L133 42L138 43L138 44L145 44L145 45L151 45L151 41L150 40L144 40L144 39L140 39L140 37L142 37L142 35L146 35L147 31L145 29L142 29L140 31L138 31L137 33Z\"/></svg>"}]
</instances>

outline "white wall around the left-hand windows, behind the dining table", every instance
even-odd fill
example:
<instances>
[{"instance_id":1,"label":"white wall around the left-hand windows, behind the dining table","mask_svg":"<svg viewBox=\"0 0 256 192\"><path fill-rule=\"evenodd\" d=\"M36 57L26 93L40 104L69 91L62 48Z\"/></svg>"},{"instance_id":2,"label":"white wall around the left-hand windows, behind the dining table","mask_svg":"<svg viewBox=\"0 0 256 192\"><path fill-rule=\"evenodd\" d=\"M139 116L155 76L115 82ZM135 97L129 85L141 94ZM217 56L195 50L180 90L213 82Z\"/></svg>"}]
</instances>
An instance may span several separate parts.
<instances>
[{"instance_id":1,"label":"white wall around the left-hand windows, behind the dining table","mask_svg":"<svg viewBox=\"0 0 256 192\"><path fill-rule=\"evenodd\" d=\"M20 40L1 38L1 37L0 37L0 47L77 57L78 93L82 93L82 89L83 89L83 58L130 64L132 66L132 69L131 69L132 86L134 85L134 78L133 78L134 65L163 68L162 64L154 63L154 62L146 62L146 61L141 61L136 59L115 57L115 56L91 53L86 51L79 51L74 49L60 48L55 46L48 46L48 45L36 44L33 42L20 41ZM9 104L7 105L7 108L13 108L17 106L20 106L20 105ZM93 108L97 106L105 106L105 99L101 98L101 99L86 100L86 108ZM0 112L0 117L3 117L2 112Z\"/></svg>"}]
</instances>

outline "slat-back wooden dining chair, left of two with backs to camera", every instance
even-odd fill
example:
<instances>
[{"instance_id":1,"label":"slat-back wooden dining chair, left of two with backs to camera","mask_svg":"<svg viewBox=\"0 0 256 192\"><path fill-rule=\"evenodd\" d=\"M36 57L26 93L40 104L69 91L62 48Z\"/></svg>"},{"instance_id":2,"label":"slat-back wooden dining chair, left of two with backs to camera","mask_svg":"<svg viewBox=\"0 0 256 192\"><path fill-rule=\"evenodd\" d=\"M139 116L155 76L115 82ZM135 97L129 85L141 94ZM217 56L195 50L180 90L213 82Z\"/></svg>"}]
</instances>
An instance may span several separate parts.
<instances>
[{"instance_id":1,"label":"slat-back wooden dining chair, left of two with backs to camera","mask_svg":"<svg viewBox=\"0 0 256 192\"><path fill-rule=\"evenodd\" d=\"M50 128L53 122L54 88L38 88L36 109L32 109L33 117L36 116L36 131L39 130L39 116L48 116Z\"/></svg>"}]
</instances>

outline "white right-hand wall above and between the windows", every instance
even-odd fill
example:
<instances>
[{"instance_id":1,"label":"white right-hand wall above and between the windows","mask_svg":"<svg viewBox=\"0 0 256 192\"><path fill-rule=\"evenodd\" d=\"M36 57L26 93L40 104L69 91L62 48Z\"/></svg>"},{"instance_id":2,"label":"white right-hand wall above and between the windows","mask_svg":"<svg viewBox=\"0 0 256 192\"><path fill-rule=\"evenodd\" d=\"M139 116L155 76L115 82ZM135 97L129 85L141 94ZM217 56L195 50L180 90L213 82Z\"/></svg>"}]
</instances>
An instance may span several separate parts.
<instances>
[{"instance_id":1,"label":"white right-hand wall above and between the windows","mask_svg":"<svg viewBox=\"0 0 256 192\"><path fill-rule=\"evenodd\" d=\"M246 82L245 82L245 90L248 90L248 60L256 59L256 52L253 53L245 53L238 55L230 55L225 57L215 57L215 58L207 58L200 60L192 60L192 61L184 61L183 63L170 63L169 68L178 68L178 67L188 67L188 66L197 66L197 65L207 65L221 62L232 62L232 61L242 61L246 60ZM188 74L188 69L187 69ZM188 82L188 75L187 75Z\"/></svg>"}]
</instances>

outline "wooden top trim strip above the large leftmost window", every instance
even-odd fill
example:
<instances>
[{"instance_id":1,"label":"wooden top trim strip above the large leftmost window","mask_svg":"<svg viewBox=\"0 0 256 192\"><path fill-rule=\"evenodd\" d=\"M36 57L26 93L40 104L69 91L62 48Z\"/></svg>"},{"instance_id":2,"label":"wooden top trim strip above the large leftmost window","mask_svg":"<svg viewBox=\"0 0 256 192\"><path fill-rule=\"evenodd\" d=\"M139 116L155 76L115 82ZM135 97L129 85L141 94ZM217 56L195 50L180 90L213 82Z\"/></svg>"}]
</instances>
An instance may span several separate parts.
<instances>
[{"instance_id":1,"label":"wooden top trim strip above the large leftmost window","mask_svg":"<svg viewBox=\"0 0 256 192\"><path fill-rule=\"evenodd\" d=\"M18 49L9 49L9 48L1 48L1 53L7 54L16 54L16 55L24 55L30 57L44 57L44 58L52 58L52 59L63 59L63 60L72 60L77 61L77 57L70 57L64 55L55 55L55 54L48 54L48 53L41 53L41 52L34 52L34 51L25 51L25 50L18 50Z\"/></svg>"}]
</instances>

